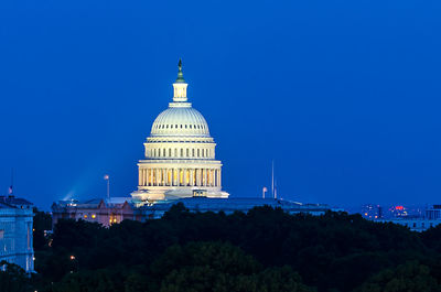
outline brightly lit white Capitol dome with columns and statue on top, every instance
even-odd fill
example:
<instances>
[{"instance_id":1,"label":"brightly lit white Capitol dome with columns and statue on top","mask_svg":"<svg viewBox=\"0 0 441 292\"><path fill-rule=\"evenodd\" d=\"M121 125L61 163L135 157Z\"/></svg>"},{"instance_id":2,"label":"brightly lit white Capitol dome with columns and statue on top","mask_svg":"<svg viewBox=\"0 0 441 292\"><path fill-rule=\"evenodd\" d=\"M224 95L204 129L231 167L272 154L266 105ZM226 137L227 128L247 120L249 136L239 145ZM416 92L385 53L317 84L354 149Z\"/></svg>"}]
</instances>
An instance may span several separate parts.
<instances>
[{"instance_id":1,"label":"brightly lit white Capitol dome with columns and statue on top","mask_svg":"<svg viewBox=\"0 0 441 292\"><path fill-rule=\"evenodd\" d=\"M222 163L204 117L186 97L187 84L182 63L173 84L173 101L153 122L144 143L144 160L138 163L138 191L141 201L205 196L227 198L222 191Z\"/></svg>"}]
</instances>

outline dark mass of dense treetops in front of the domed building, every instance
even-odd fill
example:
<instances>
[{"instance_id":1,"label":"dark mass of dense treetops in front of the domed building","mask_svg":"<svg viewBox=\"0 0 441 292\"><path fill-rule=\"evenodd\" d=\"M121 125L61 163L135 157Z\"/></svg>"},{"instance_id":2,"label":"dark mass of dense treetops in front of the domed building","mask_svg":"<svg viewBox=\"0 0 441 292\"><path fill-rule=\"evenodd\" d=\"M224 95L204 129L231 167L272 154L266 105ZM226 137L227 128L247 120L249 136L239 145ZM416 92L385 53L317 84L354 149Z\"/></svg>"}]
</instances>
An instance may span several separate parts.
<instances>
[{"instance_id":1,"label":"dark mass of dense treetops in front of the domed building","mask_svg":"<svg viewBox=\"0 0 441 292\"><path fill-rule=\"evenodd\" d=\"M162 219L110 228L62 220L51 247L35 249L37 291L441 291L441 227L417 234L345 213L175 205Z\"/></svg>"}]
</instances>

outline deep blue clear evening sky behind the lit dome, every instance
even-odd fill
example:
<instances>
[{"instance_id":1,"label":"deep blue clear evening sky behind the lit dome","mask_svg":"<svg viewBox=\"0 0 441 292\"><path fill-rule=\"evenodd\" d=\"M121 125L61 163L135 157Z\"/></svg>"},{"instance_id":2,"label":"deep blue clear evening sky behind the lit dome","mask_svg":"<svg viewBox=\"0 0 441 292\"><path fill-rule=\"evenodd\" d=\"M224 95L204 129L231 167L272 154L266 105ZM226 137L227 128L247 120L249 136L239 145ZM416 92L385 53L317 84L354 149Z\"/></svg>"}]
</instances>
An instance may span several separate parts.
<instances>
[{"instance_id":1,"label":"deep blue clear evening sky behind the lit dome","mask_svg":"<svg viewBox=\"0 0 441 292\"><path fill-rule=\"evenodd\" d=\"M233 196L440 203L441 2L0 2L0 190L126 196L183 58Z\"/></svg>"}]
</instances>

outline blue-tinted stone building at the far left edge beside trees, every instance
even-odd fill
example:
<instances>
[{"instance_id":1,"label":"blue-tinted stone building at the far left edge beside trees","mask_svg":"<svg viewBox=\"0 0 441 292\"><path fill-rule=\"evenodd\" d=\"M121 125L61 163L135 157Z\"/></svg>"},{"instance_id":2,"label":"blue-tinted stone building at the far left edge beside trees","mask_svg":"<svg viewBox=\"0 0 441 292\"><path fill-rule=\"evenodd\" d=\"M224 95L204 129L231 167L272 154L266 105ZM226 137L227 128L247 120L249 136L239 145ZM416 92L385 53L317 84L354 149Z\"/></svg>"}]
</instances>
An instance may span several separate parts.
<instances>
[{"instance_id":1,"label":"blue-tinted stone building at the far left edge beside trees","mask_svg":"<svg viewBox=\"0 0 441 292\"><path fill-rule=\"evenodd\" d=\"M14 196L0 196L0 261L34 271L32 203Z\"/></svg>"}]
</instances>

